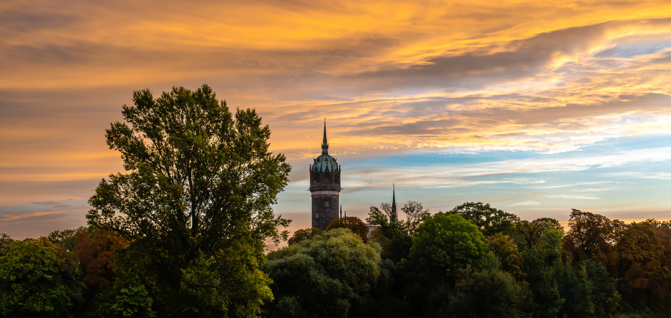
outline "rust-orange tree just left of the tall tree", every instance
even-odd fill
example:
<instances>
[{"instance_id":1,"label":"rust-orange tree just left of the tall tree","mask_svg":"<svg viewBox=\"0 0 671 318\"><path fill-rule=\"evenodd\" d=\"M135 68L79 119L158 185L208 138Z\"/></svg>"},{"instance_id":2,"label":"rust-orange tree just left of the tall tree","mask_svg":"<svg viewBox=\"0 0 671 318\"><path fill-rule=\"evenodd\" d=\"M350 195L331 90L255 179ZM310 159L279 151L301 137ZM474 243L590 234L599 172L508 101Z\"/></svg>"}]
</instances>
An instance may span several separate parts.
<instances>
[{"instance_id":1,"label":"rust-orange tree just left of the tall tree","mask_svg":"<svg viewBox=\"0 0 671 318\"><path fill-rule=\"evenodd\" d=\"M112 230L95 230L91 234L79 232L74 254L85 272L82 282L95 292L105 291L114 283L114 258L116 250L130 244Z\"/></svg>"}]
</instances>

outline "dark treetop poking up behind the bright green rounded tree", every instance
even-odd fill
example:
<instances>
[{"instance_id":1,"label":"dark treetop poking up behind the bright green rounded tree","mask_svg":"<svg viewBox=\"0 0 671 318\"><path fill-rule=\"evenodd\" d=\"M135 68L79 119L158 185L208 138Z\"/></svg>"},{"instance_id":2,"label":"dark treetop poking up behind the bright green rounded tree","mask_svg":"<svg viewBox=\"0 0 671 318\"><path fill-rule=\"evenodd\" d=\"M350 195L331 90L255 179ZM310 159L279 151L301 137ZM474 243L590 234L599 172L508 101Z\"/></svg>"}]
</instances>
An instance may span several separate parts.
<instances>
[{"instance_id":1,"label":"dark treetop poking up behind the bright green rounded tree","mask_svg":"<svg viewBox=\"0 0 671 318\"><path fill-rule=\"evenodd\" d=\"M515 214L492 208L489 204L482 202L466 202L447 213L459 214L466 220L470 220L484 236L493 236L497 233L510 234L513 232L515 222L519 221Z\"/></svg>"}]
</instances>

